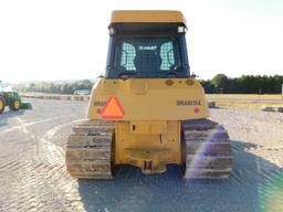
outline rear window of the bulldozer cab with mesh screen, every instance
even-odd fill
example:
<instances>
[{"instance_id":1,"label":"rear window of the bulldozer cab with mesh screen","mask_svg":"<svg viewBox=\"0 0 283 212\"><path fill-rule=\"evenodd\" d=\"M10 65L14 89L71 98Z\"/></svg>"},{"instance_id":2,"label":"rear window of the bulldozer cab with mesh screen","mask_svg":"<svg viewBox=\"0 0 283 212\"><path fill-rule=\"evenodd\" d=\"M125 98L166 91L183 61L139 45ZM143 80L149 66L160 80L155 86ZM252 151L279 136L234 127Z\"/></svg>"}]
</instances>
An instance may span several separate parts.
<instances>
[{"instance_id":1,"label":"rear window of the bulldozer cab with mesh screen","mask_svg":"<svg viewBox=\"0 0 283 212\"><path fill-rule=\"evenodd\" d=\"M180 66L175 38L128 38L118 40L114 68L130 72L169 72Z\"/></svg>"}]
</instances>

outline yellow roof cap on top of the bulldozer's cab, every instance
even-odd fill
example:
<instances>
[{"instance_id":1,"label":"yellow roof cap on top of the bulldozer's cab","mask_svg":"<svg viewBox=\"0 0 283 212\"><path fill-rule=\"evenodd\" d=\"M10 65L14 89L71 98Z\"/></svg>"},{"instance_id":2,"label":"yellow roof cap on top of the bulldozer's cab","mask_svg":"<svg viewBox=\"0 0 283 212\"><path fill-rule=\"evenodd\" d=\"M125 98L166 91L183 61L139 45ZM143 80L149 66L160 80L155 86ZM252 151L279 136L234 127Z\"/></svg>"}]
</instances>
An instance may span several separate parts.
<instances>
[{"instance_id":1,"label":"yellow roof cap on top of the bulldozer's cab","mask_svg":"<svg viewBox=\"0 0 283 212\"><path fill-rule=\"evenodd\" d=\"M171 23L186 20L180 11L159 11L159 10L116 10L112 12L112 23L119 22L149 22L149 23Z\"/></svg>"}]
</instances>

